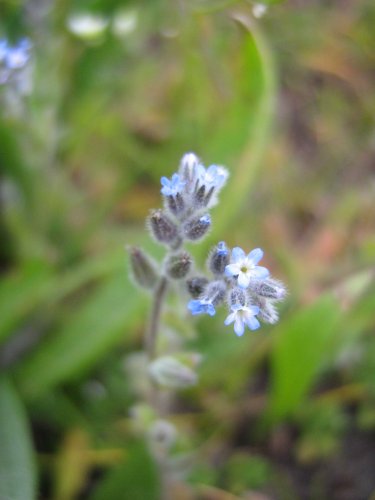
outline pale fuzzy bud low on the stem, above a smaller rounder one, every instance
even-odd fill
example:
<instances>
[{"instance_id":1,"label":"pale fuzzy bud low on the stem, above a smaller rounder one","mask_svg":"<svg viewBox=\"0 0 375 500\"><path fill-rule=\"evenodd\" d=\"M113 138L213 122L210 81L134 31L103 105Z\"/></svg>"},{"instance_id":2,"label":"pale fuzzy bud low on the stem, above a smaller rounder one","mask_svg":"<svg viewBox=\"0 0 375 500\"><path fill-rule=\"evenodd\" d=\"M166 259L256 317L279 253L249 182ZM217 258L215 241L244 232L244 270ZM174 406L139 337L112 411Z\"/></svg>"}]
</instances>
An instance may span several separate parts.
<instances>
[{"instance_id":1,"label":"pale fuzzy bud low on the stem, above a smaller rounder one","mask_svg":"<svg viewBox=\"0 0 375 500\"><path fill-rule=\"evenodd\" d=\"M190 387L198 380L192 368L173 356L157 358L149 365L148 370L155 382L170 389Z\"/></svg>"}]
</instances>

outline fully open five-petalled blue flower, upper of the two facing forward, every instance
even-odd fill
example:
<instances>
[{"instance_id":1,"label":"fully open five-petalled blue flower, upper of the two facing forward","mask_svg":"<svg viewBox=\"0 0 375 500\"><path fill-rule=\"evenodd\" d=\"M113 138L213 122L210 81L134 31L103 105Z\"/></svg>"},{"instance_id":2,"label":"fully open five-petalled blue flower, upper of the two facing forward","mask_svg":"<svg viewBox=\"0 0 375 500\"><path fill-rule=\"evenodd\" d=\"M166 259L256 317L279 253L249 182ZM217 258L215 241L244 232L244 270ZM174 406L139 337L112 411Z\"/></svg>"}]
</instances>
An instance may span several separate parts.
<instances>
[{"instance_id":1,"label":"fully open five-petalled blue flower, upper of the two facing forward","mask_svg":"<svg viewBox=\"0 0 375 500\"><path fill-rule=\"evenodd\" d=\"M242 248L235 247L232 250L231 263L225 268L225 274L235 277L241 288L247 288L252 279L262 280L270 274L265 267L257 266L262 257L263 250L260 248L246 255Z\"/></svg>"}]
</instances>

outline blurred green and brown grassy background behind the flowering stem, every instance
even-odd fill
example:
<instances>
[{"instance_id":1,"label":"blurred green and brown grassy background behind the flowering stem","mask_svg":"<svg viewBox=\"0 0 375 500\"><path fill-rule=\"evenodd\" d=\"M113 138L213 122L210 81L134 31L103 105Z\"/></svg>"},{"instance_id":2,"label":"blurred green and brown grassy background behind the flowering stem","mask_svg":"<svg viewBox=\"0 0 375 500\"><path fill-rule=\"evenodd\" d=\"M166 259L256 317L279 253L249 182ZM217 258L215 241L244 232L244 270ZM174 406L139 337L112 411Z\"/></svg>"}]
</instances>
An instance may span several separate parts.
<instances>
[{"instance_id":1,"label":"blurred green and brown grassy background behind the flowering stem","mask_svg":"<svg viewBox=\"0 0 375 500\"><path fill-rule=\"evenodd\" d=\"M231 173L197 261L260 246L290 293L241 339L167 311L204 354L172 498L375 498L374 25L371 0L0 2L32 43L0 84L1 500L159 498L124 245L161 256L144 219L187 151Z\"/></svg>"}]
</instances>

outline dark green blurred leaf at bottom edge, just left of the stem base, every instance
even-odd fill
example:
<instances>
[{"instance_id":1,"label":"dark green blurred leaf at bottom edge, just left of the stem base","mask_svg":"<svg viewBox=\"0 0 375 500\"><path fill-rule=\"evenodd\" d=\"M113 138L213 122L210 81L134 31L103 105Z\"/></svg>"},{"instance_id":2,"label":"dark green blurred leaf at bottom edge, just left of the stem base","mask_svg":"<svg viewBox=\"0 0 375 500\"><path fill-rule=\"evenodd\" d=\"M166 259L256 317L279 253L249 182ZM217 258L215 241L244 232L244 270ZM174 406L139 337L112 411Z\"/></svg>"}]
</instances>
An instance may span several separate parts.
<instances>
[{"instance_id":1,"label":"dark green blurred leaf at bottom edge, just left of the stem base","mask_svg":"<svg viewBox=\"0 0 375 500\"><path fill-rule=\"evenodd\" d=\"M159 500L160 485L157 469L142 442L125 450L126 458L113 468L92 495L92 500L131 498L132 500Z\"/></svg>"}]
</instances>

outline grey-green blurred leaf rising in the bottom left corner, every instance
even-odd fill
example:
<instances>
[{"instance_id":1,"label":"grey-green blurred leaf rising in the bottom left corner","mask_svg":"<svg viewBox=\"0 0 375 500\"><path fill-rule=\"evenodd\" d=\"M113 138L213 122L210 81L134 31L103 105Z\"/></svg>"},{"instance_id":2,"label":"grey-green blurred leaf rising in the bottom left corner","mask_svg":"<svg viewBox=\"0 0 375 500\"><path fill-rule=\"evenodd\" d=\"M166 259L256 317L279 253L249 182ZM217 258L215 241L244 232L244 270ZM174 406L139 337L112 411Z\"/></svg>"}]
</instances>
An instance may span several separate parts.
<instances>
[{"instance_id":1,"label":"grey-green blurred leaf rising in the bottom left corner","mask_svg":"<svg viewBox=\"0 0 375 500\"><path fill-rule=\"evenodd\" d=\"M27 417L12 384L0 378L0 498L36 498L36 466Z\"/></svg>"}]
</instances>

